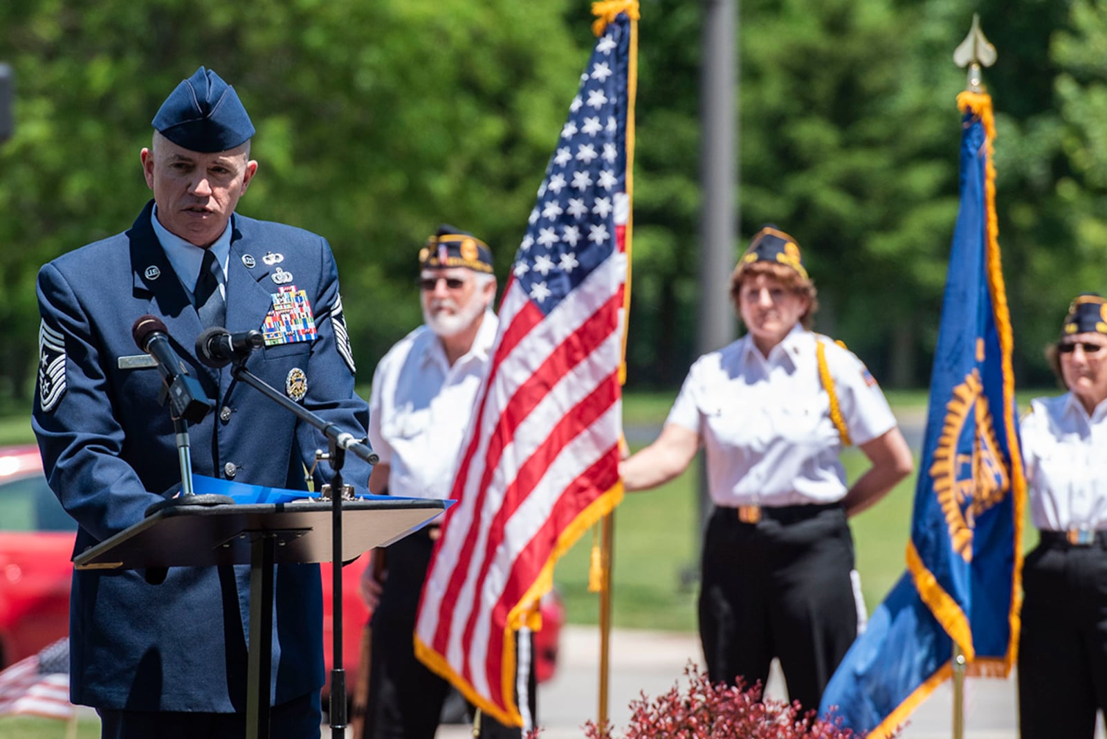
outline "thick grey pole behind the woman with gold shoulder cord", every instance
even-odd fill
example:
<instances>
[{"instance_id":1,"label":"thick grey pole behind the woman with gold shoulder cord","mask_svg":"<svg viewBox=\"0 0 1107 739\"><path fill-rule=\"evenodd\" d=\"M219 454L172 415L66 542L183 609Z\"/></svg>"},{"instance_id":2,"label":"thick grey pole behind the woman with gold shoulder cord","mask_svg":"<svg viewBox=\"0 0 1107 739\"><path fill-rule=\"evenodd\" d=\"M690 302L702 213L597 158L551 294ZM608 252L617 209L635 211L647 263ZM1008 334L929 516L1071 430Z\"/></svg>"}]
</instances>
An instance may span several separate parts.
<instances>
[{"instance_id":1,"label":"thick grey pole behind the woman with gold shoulder cord","mask_svg":"<svg viewBox=\"0 0 1107 739\"><path fill-rule=\"evenodd\" d=\"M734 341L735 315L730 296L734 269L734 233L738 222L735 171L738 84L738 0L704 0L701 72L701 187L703 214L700 249L700 322L696 356ZM703 454L700 470L700 521L711 510Z\"/></svg>"}]
</instances>

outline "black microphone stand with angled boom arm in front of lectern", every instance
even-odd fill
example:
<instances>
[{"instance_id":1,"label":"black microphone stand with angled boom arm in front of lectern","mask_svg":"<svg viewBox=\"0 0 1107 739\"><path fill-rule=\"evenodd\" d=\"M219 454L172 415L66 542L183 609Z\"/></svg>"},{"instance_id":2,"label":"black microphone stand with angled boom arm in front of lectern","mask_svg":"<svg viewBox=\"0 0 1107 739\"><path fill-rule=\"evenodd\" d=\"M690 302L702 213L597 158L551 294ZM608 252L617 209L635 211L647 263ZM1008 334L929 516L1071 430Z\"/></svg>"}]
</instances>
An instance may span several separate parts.
<instances>
[{"instance_id":1,"label":"black microphone stand with angled boom arm in front of lectern","mask_svg":"<svg viewBox=\"0 0 1107 739\"><path fill-rule=\"evenodd\" d=\"M343 739L345 737L346 729L346 690L345 670L342 668L342 498L346 495L346 486L342 482L342 465L345 461L346 451L352 451L356 457L364 459L370 465L376 464L379 457L373 454L373 450L366 445L355 439L353 435L348 431L343 431L334 424L320 418L300 404L290 400L278 391L266 384L265 381L246 368L245 357L240 362L236 363L231 367L230 372L235 379L242 381L254 389L268 397L270 400L290 410L300 420L314 426L327 436L328 456L330 458L331 469L334 471L331 476L330 483L332 511L331 525L333 528L331 570L333 574L334 602L332 614L334 622L334 638L331 645L333 649L333 667L331 669L330 718L332 739ZM352 497L352 488L350 496ZM250 617L252 621L254 615L251 614ZM254 629L251 628L250 632L252 634ZM268 655L265 655L265 657L267 656ZM255 656L251 655L250 658L254 659ZM268 665L268 659L266 659L265 664ZM267 707L268 704L269 698L267 696Z\"/></svg>"}]
</instances>

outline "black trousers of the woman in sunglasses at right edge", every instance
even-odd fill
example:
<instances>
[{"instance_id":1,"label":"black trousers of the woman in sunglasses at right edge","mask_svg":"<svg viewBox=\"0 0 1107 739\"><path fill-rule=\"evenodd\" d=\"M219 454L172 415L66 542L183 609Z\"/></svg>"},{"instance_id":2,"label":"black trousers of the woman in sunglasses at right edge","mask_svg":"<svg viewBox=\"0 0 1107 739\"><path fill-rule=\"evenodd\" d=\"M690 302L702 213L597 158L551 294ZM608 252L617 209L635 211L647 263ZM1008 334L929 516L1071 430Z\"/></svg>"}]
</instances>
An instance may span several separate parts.
<instances>
[{"instance_id":1,"label":"black trousers of the woman in sunglasses at right edge","mask_svg":"<svg viewBox=\"0 0 1107 739\"><path fill-rule=\"evenodd\" d=\"M1043 542L1026 556L1023 587L1022 737L1092 739L1107 710L1107 551Z\"/></svg>"}]
</instances>

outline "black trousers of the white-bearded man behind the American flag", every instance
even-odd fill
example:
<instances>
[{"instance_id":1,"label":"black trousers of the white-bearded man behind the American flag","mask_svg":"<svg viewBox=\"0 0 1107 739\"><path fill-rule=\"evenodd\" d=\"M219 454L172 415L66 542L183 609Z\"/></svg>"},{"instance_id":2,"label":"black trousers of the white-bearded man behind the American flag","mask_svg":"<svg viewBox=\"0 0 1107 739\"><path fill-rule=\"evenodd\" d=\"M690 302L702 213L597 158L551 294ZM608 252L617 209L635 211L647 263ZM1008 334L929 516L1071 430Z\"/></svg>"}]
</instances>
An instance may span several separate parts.
<instances>
[{"instance_id":1,"label":"black trousers of the white-bearded man behind the American flag","mask_svg":"<svg viewBox=\"0 0 1107 739\"><path fill-rule=\"evenodd\" d=\"M434 739L442 706L452 687L415 657L413 635L418 597L434 542L425 531L389 547L387 577L371 622L369 699L365 739ZM534 643L530 643L534 654ZM534 659L528 676L531 717L536 716ZM472 707L470 707L472 715ZM482 739L520 739L519 727L482 715Z\"/></svg>"}]
</instances>

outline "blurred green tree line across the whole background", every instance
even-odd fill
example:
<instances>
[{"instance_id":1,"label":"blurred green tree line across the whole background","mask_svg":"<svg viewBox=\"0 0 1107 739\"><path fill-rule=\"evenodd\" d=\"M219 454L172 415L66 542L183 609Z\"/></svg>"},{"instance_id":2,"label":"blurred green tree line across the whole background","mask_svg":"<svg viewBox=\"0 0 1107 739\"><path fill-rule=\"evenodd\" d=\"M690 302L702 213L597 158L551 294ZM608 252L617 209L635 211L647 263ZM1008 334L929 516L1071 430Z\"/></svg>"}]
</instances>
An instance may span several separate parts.
<instances>
[{"instance_id":1,"label":"blurred green tree line across the whole background","mask_svg":"<svg viewBox=\"0 0 1107 739\"><path fill-rule=\"evenodd\" d=\"M703 4L641 0L630 388L694 358ZM999 51L1000 243L1023 386L1069 299L1107 290L1107 0L744 0L741 222L792 232L817 329L887 387L929 382L958 207L972 13ZM197 66L258 129L248 216L324 235L364 382L421 321L416 253L439 222L504 278L592 43L586 0L6 0L0 61L0 409L34 386L39 267L123 230L149 197L138 150ZM279 250L280 244L273 244ZM95 280L95 274L87 275ZM717 275L727 280L727 274Z\"/></svg>"}]
</instances>

